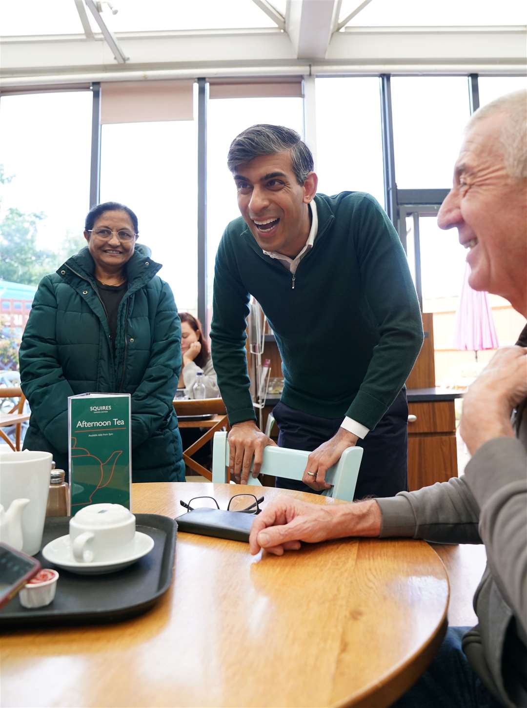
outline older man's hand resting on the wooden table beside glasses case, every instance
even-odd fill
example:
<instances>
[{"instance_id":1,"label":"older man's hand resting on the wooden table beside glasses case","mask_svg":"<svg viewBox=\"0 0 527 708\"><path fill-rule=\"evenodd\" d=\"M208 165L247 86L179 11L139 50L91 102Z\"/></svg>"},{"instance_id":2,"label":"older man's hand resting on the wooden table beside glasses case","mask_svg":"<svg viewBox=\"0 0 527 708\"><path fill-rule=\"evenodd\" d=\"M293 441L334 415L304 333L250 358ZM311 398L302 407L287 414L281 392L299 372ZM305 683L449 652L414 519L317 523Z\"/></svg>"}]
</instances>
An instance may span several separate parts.
<instances>
[{"instance_id":1,"label":"older man's hand resting on the wooden table beside glasses case","mask_svg":"<svg viewBox=\"0 0 527 708\"><path fill-rule=\"evenodd\" d=\"M296 551L300 542L317 543L346 536L378 536L381 513L373 500L353 504L312 504L279 496L256 516L249 536L249 550L277 556Z\"/></svg>"}]
</instances>

